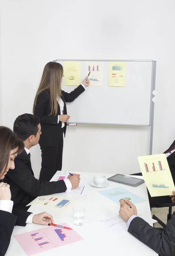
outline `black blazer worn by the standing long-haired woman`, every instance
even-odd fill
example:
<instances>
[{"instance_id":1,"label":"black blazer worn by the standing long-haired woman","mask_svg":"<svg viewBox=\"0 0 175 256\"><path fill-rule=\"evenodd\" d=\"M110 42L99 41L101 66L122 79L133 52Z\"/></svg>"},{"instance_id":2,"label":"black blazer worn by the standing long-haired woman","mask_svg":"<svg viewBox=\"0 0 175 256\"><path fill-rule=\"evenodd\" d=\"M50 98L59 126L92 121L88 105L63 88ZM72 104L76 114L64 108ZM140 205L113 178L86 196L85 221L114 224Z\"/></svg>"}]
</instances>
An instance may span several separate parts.
<instances>
[{"instance_id":1,"label":"black blazer worn by the standing long-haired woman","mask_svg":"<svg viewBox=\"0 0 175 256\"><path fill-rule=\"evenodd\" d=\"M61 91L61 99L64 102L63 114L67 114L66 102L73 102L81 93L84 91L84 87L79 85L71 93L66 93L63 90ZM60 106L58 104L57 115L49 116L51 112L50 108L50 96L49 91L43 91L37 97L36 107L34 114L40 117L41 131L39 144L44 146L57 146L60 137L63 134L61 129L61 122L57 123L58 116L60 115ZM64 126L64 134L66 134L66 123Z\"/></svg>"}]
</instances>

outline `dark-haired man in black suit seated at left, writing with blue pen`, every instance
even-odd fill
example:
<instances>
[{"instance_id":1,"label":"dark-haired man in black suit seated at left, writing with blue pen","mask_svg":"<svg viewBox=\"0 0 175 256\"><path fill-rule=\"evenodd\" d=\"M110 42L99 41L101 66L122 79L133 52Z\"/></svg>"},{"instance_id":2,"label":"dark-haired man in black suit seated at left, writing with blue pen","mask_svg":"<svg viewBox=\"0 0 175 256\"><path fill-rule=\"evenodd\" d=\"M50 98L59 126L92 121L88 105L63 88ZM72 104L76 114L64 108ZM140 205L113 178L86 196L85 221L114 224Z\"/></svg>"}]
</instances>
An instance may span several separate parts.
<instances>
[{"instance_id":1,"label":"dark-haired man in black suit seated at left, writing with blue pen","mask_svg":"<svg viewBox=\"0 0 175 256\"><path fill-rule=\"evenodd\" d=\"M4 182L10 185L11 198L14 208L28 209L25 207L34 198L40 195L51 195L69 192L77 188L80 175L69 175L65 180L39 181L34 177L30 160L30 148L38 144L41 134L40 119L36 115L23 114L14 121L14 132L24 143L24 151L14 160L14 170L9 170Z\"/></svg>"}]
</instances>

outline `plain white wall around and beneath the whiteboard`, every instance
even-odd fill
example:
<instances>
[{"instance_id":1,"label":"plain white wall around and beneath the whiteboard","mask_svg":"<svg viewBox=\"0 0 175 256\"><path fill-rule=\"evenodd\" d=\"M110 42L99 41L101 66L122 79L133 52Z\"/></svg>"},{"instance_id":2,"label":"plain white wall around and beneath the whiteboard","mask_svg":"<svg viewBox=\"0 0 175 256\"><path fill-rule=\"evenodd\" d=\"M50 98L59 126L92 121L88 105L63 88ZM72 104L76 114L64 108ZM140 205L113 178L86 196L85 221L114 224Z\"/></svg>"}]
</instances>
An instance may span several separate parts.
<instances>
[{"instance_id":1,"label":"plain white wall around and beneath the whiteboard","mask_svg":"<svg viewBox=\"0 0 175 256\"><path fill-rule=\"evenodd\" d=\"M175 137L174 13L174 0L3 0L3 125L12 127L19 114L32 112L48 61L153 59L158 90L153 153L164 151ZM32 151L38 175L39 147ZM148 153L149 128L78 125L68 127L63 169L138 172L137 156Z\"/></svg>"}]
</instances>

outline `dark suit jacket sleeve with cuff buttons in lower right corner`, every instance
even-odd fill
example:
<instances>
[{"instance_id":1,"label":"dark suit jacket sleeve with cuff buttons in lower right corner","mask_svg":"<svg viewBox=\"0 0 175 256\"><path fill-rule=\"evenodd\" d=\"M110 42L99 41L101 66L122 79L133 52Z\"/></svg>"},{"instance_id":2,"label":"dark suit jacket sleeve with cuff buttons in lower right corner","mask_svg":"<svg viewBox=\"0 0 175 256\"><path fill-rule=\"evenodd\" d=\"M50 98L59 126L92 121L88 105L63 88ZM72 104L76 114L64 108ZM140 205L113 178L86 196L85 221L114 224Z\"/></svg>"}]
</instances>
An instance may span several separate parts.
<instances>
[{"instance_id":1,"label":"dark suit jacket sleeve with cuff buttons in lower right corner","mask_svg":"<svg viewBox=\"0 0 175 256\"><path fill-rule=\"evenodd\" d=\"M151 227L142 218L136 217L131 221L128 232L160 256L175 256L175 212L164 231Z\"/></svg>"}]
</instances>

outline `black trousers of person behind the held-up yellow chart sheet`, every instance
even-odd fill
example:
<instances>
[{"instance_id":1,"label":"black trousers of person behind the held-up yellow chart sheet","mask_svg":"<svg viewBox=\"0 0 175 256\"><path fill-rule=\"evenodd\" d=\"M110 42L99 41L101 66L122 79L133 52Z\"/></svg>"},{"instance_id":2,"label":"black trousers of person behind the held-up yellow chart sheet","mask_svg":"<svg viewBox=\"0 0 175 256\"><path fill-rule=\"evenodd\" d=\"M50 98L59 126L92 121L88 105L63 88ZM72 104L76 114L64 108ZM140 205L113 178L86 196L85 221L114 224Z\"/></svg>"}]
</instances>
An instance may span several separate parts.
<instances>
[{"instance_id":1,"label":"black trousers of person behind the held-up yellow chart sheet","mask_svg":"<svg viewBox=\"0 0 175 256\"><path fill-rule=\"evenodd\" d=\"M142 173L135 173L132 175L138 175L138 176L142 176ZM167 203L172 203L171 198L169 197L169 195L165 195L165 196L155 196L155 197L151 197L151 195L149 194L149 191L147 189L148 192L148 198L149 198L149 205L150 207L158 207L160 204L167 204Z\"/></svg>"}]
</instances>

